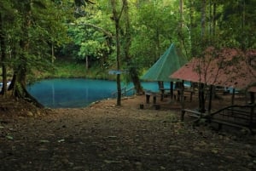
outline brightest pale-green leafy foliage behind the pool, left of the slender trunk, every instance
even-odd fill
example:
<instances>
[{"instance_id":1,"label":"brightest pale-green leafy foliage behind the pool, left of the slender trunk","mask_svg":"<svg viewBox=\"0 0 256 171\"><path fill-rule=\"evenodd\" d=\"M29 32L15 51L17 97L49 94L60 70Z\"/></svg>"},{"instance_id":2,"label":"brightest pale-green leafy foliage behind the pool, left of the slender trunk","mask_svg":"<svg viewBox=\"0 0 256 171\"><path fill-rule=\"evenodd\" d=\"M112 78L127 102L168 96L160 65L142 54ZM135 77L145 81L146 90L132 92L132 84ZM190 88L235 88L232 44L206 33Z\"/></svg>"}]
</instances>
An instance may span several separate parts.
<instances>
[{"instance_id":1,"label":"brightest pale-green leafy foliage behind the pool, left of the slender trunk","mask_svg":"<svg viewBox=\"0 0 256 171\"><path fill-rule=\"evenodd\" d=\"M69 26L68 34L76 45L76 48L70 49L73 51L73 59L84 60L89 57L89 60L102 60L102 63L106 63L104 56L108 55L112 48L109 36L111 33L102 28L101 25L107 23L107 20L104 20L106 16L96 8L88 7L85 15Z\"/></svg>"}]
</instances>

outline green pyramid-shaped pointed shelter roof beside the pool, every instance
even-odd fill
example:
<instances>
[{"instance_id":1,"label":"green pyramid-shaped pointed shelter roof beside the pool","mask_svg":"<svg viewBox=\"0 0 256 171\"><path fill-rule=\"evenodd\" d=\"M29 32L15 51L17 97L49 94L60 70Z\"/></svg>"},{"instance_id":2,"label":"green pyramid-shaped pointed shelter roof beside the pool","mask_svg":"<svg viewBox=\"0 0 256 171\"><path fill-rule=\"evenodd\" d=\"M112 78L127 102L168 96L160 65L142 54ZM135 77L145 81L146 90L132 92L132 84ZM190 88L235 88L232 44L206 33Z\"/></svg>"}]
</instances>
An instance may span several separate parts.
<instances>
[{"instance_id":1,"label":"green pyramid-shaped pointed shelter roof beside the pool","mask_svg":"<svg viewBox=\"0 0 256 171\"><path fill-rule=\"evenodd\" d=\"M175 47L174 43L172 43L141 79L155 82L171 82L172 96L173 82L177 81L177 79L170 78L170 75L186 62L187 60L184 58L183 54Z\"/></svg>"}]
</instances>

